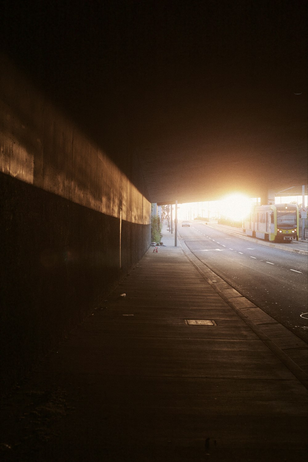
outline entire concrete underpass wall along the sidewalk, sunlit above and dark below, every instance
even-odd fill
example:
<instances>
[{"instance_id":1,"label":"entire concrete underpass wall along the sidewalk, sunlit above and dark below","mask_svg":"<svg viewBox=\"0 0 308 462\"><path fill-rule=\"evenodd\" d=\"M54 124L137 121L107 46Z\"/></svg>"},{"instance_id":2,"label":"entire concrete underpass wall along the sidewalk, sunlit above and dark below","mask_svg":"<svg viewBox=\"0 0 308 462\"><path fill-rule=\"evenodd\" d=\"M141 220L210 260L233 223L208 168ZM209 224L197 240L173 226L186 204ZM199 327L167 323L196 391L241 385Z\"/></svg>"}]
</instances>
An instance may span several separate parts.
<instances>
[{"instance_id":1,"label":"entire concrete underpass wall along the sidewalk, sunlit above and dark below","mask_svg":"<svg viewBox=\"0 0 308 462\"><path fill-rule=\"evenodd\" d=\"M151 203L132 152L125 150L124 164L134 182L6 58L1 68L0 391L6 393L144 255Z\"/></svg>"}]
</instances>

